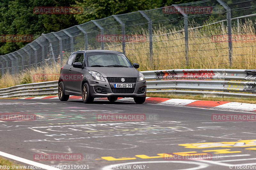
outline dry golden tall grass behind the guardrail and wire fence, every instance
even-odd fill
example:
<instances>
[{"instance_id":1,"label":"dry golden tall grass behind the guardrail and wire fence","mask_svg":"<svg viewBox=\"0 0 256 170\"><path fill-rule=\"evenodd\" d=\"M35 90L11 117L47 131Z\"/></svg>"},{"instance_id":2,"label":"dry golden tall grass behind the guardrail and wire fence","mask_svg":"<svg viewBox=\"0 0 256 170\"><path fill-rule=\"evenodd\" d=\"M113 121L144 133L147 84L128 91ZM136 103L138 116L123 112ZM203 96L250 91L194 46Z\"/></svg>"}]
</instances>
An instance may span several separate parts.
<instances>
[{"instance_id":1,"label":"dry golden tall grass behind the guardrail and wire fence","mask_svg":"<svg viewBox=\"0 0 256 170\"><path fill-rule=\"evenodd\" d=\"M232 32L236 35L255 35L255 22L248 20ZM233 66L229 66L228 42L213 42L212 35L227 33L221 28L221 24L204 26L197 30L189 31L189 65L186 66L184 32L177 30L159 29L153 32L153 60L149 60L149 42L127 42L126 55L131 62L140 64L139 70L174 69L174 68L234 68L234 69L256 69L256 39L247 41L233 41ZM144 32L148 35L148 32ZM161 36L159 36L161 35ZM219 40L221 41L221 40ZM120 43L120 42L119 42ZM122 51L122 43L105 43L108 50ZM82 50L82 49L81 49ZM66 61L66 59L65 59ZM45 65L41 67L27 68L19 74L6 73L0 79L0 88L18 85L24 79L33 80L34 74L59 74L61 65L55 67Z\"/></svg>"}]
</instances>

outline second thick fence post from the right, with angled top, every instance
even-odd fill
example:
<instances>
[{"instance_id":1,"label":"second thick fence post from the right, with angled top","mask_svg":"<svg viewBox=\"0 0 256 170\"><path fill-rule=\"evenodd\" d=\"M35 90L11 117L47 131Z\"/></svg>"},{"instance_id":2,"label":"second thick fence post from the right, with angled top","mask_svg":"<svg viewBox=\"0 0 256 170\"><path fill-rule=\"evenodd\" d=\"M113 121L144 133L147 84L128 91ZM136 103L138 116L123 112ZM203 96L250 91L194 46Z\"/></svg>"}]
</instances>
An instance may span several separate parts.
<instances>
[{"instance_id":1,"label":"second thick fence post from the right, with angled top","mask_svg":"<svg viewBox=\"0 0 256 170\"><path fill-rule=\"evenodd\" d=\"M178 5L173 5L174 8L176 8L184 18L184 34L185 34L185 56L186 56L186 66L189 65L189 59L188 59L188 15L180 9Z\"/></svg>"}]
</instances>

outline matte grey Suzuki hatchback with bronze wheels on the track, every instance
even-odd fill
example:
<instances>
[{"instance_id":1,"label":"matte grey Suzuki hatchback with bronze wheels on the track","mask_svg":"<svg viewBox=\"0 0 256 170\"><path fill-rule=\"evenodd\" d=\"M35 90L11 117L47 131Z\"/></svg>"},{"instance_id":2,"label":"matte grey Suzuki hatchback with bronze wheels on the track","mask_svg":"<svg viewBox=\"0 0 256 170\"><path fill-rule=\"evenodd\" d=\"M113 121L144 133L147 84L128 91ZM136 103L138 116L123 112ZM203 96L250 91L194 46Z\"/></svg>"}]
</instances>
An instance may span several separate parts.
<instances>
[{"instance_id":1,"label":"matte grey Suzuki hatchback with bronze wheels on the track","mask_svg":"<svg viewBox=\"0 0 256 170\"><path fill-rule=\"evenodd\" d=\"M74 95L82 96L84 103L91 103L97 97L107 97L110 102L118 97L133 97L135 103L144 103L147 84L136 68L139 64L132 64L122 52L73 52L60 70L59 99L67 101L69 95Z\"/></svg>"}]
</instances>

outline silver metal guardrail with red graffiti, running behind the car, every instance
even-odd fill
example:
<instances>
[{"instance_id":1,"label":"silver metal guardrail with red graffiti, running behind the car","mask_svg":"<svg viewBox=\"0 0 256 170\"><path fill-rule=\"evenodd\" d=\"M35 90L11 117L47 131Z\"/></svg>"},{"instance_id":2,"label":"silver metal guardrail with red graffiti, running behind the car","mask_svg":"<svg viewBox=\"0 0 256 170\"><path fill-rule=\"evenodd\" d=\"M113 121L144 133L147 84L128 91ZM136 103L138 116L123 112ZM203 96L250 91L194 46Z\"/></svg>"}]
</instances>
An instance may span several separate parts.
<instances>
[{"instance_id":1,"label":"silver metal guardrail with red graffiti, running behind the car","mask_svg":"<svg viewBox=\"0 0 256 170\"><path fill-rule=\"evenodd\" d=\"M183 95L256 97L256 70L171 69L142 71L148 92ZM0 89L0 98L58 94L58 81Z\"/></svg>"}]
</instances>

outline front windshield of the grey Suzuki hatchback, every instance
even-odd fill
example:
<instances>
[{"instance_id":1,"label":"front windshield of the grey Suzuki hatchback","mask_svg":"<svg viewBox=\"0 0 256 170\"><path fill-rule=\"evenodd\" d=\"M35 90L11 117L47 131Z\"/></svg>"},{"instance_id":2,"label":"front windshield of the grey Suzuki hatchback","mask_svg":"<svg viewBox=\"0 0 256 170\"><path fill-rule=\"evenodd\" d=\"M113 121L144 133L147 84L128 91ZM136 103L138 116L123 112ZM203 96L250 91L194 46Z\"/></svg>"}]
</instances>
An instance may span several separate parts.
<instances>
[{"instance_id":1,"label":"front windshield of the grey Suzuki hatchback","mask_svg":"<svg viewBox=\"0 0 256 170\"><path fill-rule=\"evenodd\" d=\"M122 53L87 53L89 67L132 67Z\"/></svg>"}]
</instances>

